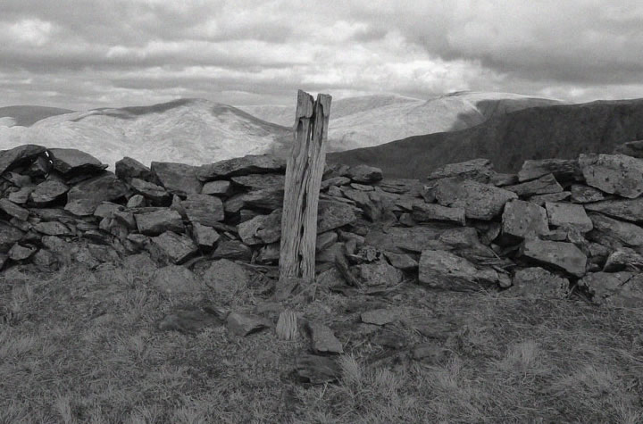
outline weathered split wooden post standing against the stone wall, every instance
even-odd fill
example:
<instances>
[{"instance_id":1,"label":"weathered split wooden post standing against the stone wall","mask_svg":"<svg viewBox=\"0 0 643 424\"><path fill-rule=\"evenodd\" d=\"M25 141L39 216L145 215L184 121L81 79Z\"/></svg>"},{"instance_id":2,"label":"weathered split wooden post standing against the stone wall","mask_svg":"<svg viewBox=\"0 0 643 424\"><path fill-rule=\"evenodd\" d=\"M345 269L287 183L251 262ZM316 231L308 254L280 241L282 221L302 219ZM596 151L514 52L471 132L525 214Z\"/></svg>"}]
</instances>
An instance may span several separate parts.
<instances>
[{"instance_id":1,"label":"weathered split wooden post standing against the stone wall","mask_svg":"<svg viewBox=\"0 0 643 424\"><path fill-rule=\"evenodd\" d=\"M297 92L295 139L286 164L281 218L280 281L313 281L317 242L317 206L326 163L329 95Z\"/></svg>"}]
</instances>

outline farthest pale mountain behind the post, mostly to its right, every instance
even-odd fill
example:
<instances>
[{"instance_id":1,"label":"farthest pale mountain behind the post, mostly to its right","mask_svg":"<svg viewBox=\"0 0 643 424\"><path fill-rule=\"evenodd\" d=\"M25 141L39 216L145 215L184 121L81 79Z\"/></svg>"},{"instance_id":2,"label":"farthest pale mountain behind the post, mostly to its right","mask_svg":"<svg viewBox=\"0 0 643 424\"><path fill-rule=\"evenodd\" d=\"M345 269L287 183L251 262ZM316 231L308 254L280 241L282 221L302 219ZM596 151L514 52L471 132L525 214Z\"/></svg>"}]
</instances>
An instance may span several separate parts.
<instances>
[{"instance_id":1,"label":"farthest pale mountain behind the post, mostly to its right","mask_svg":"<svg viewBox=\"0 0 643 424\"><path fill-rule=\"evenodd\" d=\"M361 96L330 107L329 151L382 145L400 138L467 129L506 112L561 104L553 99L511 93L458 92L429 100L403 96ZM264 121L292 126L295 108L240 106Z\"/></svg>"}]
</instances>

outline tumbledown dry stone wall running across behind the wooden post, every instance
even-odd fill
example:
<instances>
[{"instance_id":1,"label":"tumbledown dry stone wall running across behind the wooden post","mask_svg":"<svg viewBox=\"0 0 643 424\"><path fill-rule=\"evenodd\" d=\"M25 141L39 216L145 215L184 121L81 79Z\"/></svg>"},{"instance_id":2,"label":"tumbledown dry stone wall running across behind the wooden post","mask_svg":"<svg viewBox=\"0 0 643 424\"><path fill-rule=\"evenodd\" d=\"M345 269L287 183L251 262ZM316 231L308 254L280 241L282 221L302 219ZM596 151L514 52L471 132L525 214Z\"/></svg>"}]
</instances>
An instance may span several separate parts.
<instances>
[{"instance_id":1,"label":"tumbledown dry stone wall running across behind the wooden post","mask_svg":"<svg viewBox=\"0 0 643 424\"><path fill-rule=\"evenodd\" d=\"M526 161L517 174L476 159L422 181L383 179L366 165L328 166L317 282L338 292L414 281L643 306L639 144L616 154ZM75 261L96 268L145 257L164 267L159 286L175 289L172 279L188 286L184 270L199 261L226 274L235 262L274 270L285 167L268 155L149 168L123 158L112 172L75 149L0 152L0 266L55 270ZM246 331L243 320L233 321Z\"/></svg>"}]
</instances>

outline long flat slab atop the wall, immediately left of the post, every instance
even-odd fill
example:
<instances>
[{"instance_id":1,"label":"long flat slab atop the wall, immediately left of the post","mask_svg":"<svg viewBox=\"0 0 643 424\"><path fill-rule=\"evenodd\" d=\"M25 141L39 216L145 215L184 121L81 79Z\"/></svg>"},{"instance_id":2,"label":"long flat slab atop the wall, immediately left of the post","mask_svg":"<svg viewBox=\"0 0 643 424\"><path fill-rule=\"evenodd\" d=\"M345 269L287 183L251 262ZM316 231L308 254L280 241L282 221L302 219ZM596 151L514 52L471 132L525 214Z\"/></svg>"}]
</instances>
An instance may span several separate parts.
<instances>
[{"instance_id":1,"label":"long flat slab atop the wall, immediately left of the post","mask_svg":"<svg viewBox=\"0 0 643 424\"><path fill-rule=\"evenodd\" d=\"M284 170L286 170L285 159L268 154L247 154L244 157L202 165L196 175L198 179L205 182L248 174L280 173Z\"/></svg>"}]
</instances>

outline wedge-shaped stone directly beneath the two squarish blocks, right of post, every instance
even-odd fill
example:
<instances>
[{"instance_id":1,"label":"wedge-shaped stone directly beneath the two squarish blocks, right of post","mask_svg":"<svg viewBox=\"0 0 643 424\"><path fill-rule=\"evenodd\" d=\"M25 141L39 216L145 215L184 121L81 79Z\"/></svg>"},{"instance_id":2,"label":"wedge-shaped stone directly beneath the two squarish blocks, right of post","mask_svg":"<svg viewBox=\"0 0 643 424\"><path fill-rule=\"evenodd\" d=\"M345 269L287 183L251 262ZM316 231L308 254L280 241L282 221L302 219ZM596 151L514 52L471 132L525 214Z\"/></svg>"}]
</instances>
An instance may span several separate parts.
<instances>
[{"instance_id":1,"label":"wedge-shaped stone directly beneath the two squarish blocks, right of post","mask_svg":"<svg viewBox=\"0 0 643 424\"><path fill-rule=\"evenodd\" d=\"M521 246L521 254L525 258L546 263L576 277L585 275L587 256L572 243L528 239Z\"/></svg>"}]
</instances>

